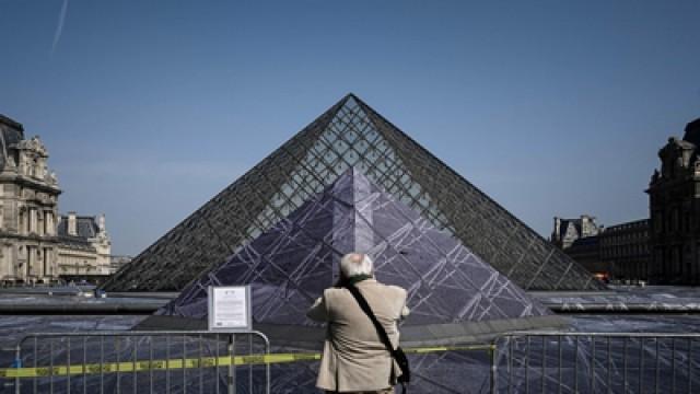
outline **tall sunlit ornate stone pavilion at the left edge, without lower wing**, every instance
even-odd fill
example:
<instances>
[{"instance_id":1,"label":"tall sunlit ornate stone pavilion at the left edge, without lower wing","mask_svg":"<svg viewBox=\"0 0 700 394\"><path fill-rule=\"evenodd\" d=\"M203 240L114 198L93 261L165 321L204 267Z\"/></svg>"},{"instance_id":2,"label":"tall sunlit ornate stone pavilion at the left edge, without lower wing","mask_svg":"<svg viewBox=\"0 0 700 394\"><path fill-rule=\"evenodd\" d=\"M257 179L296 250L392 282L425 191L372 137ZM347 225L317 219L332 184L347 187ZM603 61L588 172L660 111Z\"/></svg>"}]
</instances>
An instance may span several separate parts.
<instances>
[{"instance_id":1,"label":"tall sunlit ornate stone pavilion at the left edge, without lower wing","mask_svg":"<svg viewBox=\"0 0 700 394\"><path fill-rule=\"evenodd\" d=\"M57 279L58 187L38 137L0 115L0 281Z\"/></svg>"}]
</instances>

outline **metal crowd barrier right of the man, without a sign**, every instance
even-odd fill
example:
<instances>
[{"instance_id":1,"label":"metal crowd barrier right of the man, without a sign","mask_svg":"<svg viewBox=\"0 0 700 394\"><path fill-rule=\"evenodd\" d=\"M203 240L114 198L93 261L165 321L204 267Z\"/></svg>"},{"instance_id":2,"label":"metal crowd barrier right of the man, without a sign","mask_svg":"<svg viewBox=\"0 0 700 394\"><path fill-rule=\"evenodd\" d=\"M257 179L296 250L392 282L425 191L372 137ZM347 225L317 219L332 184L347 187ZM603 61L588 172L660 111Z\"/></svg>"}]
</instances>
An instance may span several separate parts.
<instances>
[{"instance_id":1,"label":"metal crowd barrier right of the man, without a sign","mask_svg":"<svg viewBox=\"0 0 700 394\"><path fill-rule=\"evenodd\" d=\"M524 332L492 345L491 393L693 393L700 334Z\"/></svg>"}]
</instances>

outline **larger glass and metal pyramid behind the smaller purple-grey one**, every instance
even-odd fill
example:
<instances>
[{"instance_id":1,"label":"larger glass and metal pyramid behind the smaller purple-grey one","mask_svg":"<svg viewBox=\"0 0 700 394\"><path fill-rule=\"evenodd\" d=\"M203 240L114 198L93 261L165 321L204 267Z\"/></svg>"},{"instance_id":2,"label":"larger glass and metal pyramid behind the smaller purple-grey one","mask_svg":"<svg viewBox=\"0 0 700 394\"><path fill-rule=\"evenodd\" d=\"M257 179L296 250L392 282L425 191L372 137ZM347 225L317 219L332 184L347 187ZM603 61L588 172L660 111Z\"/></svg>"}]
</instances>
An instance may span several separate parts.
<instances>
[{"instance_id":1,"label":"larger glass and metal pyramid behind the smaller purple-grey one","mask_svg":"<svg viewBox=\"0 0 700 394\"><path fill-rule=\"evenodd\" d=\"M523 289L604 285L349 94L120 269L108 291L179 291L358 167Z\"/></svg>"}]
</instances>

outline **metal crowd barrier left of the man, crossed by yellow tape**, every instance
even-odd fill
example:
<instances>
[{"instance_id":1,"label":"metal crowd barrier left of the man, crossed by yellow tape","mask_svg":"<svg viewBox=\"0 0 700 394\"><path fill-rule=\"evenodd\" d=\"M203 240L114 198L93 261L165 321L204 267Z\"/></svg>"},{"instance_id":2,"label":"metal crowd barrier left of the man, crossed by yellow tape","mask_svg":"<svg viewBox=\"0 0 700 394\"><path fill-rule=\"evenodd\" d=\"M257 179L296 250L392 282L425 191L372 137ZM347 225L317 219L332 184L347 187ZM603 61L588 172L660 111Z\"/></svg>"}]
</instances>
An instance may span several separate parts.
<instances>
[{"instance_id":1,"label":"metal crowd barrier left of the man, crossed by yellow tape","mask_svg":"<svg viewBox=\"0 0 700 394\"><path fill-rule=\"evenodd\" d=\"M14 367L21 372L14 390L269 394L269 340L259 332L32 334L15 349Z\"/></svg>"}]
</instances>

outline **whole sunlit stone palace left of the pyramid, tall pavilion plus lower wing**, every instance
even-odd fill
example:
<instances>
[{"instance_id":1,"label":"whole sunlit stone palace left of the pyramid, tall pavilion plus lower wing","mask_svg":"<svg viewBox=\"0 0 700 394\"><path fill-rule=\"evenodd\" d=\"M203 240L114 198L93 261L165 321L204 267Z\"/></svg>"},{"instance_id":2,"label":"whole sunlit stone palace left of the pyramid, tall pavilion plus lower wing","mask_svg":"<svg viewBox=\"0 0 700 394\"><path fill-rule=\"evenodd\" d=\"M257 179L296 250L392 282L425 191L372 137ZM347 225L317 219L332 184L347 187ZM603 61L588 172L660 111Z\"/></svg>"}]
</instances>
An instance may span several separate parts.
<instances>
[{"instance_id":1,"label":"whole sunlit stone palace left of the pyramid, tall pavilion plus lower wing","mask_svg":"<svg viewBox=\"0 0 700 394\"><path fill-rule=\"evenodd\" d=\"M0 282L50 283L70 275L108 275L104 216L58 216L61 190L38 137L0 115Z\"/></svg>"}]
</instances>

